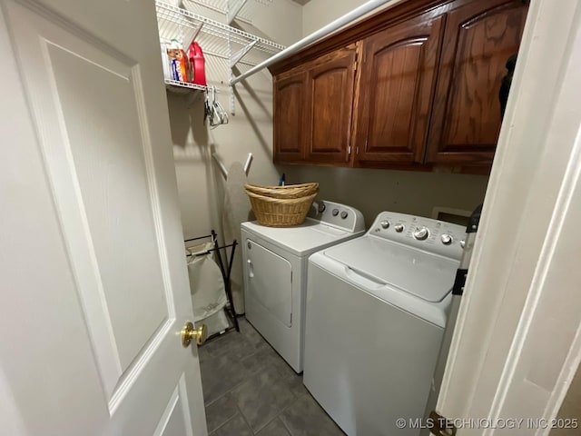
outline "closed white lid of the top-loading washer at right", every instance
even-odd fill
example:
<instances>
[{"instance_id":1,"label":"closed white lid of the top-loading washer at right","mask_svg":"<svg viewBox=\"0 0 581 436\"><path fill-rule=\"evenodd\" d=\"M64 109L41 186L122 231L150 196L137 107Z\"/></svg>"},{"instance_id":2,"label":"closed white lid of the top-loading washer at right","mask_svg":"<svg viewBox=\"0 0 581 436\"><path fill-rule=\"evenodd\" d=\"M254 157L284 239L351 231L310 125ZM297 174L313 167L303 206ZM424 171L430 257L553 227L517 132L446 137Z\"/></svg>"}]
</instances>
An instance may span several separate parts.
<instances>
[{"instance_id":1,"label":"closed white lid of the top-loading washer at right","mask_svg":"<svg viewBox=\"0 0 581 436\"><path fill-rule=\"evenodd\" d=\"M325 250L331 259L375 282L387 283L428 302L440 302L452 289L459 262L363 236Z\"/></svg>"}]
</instances>

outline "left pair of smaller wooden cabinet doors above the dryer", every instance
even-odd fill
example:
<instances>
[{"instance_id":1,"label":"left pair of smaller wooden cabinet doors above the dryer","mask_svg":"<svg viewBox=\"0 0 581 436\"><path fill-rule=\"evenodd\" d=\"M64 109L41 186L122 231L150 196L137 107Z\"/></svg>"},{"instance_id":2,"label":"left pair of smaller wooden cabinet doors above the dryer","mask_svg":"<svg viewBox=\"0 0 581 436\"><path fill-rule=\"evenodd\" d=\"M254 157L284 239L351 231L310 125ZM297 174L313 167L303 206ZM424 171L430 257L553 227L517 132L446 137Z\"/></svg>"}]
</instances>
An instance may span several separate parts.
<instances>
[{"instance_id":1,"label":"left pair of smaller wooden cabinet doors above the dryer","mask_svg":"<svg viewBox=\"0 0 581 436\"><path fill-rule=\"evenodd\" d=\"M355 45L274 76L274 162L350 163Z\"/></svg>"}]
</instances>

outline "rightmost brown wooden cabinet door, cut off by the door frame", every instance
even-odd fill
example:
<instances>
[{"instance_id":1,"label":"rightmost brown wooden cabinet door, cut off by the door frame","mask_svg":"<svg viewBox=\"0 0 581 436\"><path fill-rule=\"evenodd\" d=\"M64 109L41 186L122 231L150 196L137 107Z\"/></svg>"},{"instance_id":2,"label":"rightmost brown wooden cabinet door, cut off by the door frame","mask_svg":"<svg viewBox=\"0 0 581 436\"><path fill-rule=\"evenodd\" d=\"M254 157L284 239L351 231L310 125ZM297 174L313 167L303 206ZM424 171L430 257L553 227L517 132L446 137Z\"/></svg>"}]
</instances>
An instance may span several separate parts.
<instances>
[{"instance_id":1,"label":"rightmost brown wooden cabinet door, cut off by the door frame","mask_svg":"<svg viewBox=\"0 0 581 436\"><path fill-rule=\"evenodd\" d=\"M478 0L448 14L427 162L492 163L501 122L498 92L526 18L520 0Z\"/></svg>"}]
</instances>

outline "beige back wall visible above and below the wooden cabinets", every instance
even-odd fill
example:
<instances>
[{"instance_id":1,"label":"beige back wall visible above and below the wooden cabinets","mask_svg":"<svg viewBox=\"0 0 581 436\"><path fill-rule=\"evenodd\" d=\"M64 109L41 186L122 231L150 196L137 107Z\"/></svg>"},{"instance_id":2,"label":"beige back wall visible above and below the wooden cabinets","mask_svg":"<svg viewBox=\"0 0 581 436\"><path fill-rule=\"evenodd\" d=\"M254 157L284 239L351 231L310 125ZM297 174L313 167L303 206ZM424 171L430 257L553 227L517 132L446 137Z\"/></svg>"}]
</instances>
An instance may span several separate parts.
<instances>
[{"instance_id":1,"label":"beige back wall visible above and below the wooden cabinets","mask_svg":"<svg viewBox=\"0 0 581 436\"><path fill-rule=\"evenodd\" d=\"M339 18L364 0L310 0L303 6L303 36ZM393 5L391 3L390 5ZM319 182L320 197L348 203L365 216L391 210L429 216L434 206L473 210L482 203L487 176L392 170L283 166L288 183Z\"/></svg>"}]
</instances>

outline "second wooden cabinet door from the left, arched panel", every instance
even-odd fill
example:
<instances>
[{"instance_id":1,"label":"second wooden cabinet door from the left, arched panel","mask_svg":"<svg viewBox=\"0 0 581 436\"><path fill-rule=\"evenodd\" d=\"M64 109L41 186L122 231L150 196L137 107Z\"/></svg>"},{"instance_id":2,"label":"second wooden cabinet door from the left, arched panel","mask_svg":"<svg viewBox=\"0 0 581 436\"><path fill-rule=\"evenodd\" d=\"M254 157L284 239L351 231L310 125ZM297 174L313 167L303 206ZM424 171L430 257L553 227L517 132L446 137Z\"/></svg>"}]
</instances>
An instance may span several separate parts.
<instances>
[{"instance_id":1,"label":"second wooden cabinet door from the left, arched panel","mask_svg":"<svg viewBox=\"0 0 581 436\"><path fill-rule=\"evenodd\" d=\"M311 163L350 162L355 58L354 47L344 48L309 68L305 159Z\"/></svg>"}]
</instances>

